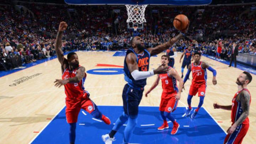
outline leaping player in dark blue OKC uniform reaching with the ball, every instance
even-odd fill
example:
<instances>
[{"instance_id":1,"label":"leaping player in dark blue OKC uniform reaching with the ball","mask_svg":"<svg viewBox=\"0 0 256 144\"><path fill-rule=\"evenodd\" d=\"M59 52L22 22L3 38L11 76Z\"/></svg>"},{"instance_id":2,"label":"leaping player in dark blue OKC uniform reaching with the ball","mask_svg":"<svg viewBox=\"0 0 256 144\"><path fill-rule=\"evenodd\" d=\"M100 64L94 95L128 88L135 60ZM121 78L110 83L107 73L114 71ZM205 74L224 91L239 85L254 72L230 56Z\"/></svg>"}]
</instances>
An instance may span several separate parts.
<instances>
[{"instance_id":1,"label":"leaping player in dark blue OKC uniform reaching with the ball","mask_svg":"<svg viewBox=\"0 0 256 144\"><path fill-rule=\"evenodd\" d=\"M183 32L187 32L188 27ZM149 70L150 56L159 54L171 47L184 35L178 34L176 37L170 39L167 43L156 46L155 48L145 49L142 38L136 36L130 41L133 49L128 49L124 59L124 79L128 82L123 89L123 114L117 119L116 124L109 134L102 135L102 140L105 144L112 144L114 141L114 134L126 122L127 126L124 129L123 144L128 144L132 136L133 130L137 124L139 103L142 99L144 86L146 85L146 78L154 74L166 73L167 66L159 66L158 69Z\"/></svg>"}]
</instances>

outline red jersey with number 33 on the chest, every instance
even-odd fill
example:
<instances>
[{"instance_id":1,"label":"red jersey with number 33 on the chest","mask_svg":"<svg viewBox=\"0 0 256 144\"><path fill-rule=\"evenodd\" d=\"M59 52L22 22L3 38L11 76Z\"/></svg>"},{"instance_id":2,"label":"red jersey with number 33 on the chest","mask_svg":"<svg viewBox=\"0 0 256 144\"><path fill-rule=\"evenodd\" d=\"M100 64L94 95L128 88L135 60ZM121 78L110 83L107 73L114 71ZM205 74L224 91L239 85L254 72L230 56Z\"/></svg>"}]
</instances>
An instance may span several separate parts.
<instances>
[{"instance_id":1,"label":"red jersey with number 33 on the chest","mask_svg":"<svg viewBox=\"0 0 256 144\"><path fill-rule=\"evenodd\" d=\"M202 62L200 62L197 66L194 66L194 63L191 63L191 71L192 71L192 83L205 83L207 80L207 71L202 68Z\"/></svg>"}]
</instances>

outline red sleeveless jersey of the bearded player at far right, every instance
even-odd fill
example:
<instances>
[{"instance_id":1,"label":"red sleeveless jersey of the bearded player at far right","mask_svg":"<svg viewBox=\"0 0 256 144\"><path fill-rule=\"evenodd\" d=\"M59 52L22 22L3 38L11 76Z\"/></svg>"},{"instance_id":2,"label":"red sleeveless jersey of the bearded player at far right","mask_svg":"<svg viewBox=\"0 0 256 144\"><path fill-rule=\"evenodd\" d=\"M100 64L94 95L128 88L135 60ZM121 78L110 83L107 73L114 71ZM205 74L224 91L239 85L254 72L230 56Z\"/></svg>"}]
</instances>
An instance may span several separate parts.
<instances>
[{"instance_id":1,"label":"red sleeveless jersey of the bearded player at far right","mask_svg":"<svg viewBox=\"0 0 256 144\"><path fill-rule=\"evenodd\" d=\"M242 90L236 92L235 96L233 97L233 100L232 100L232 108L231 108L231 121L232 121L233 123L236 122L236 121L239 119L239 117L241 116L241 114L242 114L242 112L243 112L243 111L242 111L241 102L236 100L236 97L237 97L237 96L239 95L239 93L240 93L241 91L243 91L243 90L247 91L247 92L250 94L250 92L249 92L248 89L242 89ZM250 94L250 104L251 104L251 94ZM249 124L249 118L247 117L247 118L242 122L242 124Z\"/></svg>"}]
</instances>

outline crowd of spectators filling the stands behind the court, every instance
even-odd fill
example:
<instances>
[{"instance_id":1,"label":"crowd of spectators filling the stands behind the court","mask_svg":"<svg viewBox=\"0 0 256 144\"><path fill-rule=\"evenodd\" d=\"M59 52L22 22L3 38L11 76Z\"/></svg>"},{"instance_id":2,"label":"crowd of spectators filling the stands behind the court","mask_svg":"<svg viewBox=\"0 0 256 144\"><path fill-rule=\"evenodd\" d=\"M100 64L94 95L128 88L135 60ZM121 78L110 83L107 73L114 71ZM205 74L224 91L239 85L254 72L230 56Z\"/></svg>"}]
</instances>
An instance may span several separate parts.
<instances>
[{"instance_id":1,"label":"crowd of spectators filling the stands behind the court","mask_svg":"<svg viewBox=\"0 0 256 144\"><path fill-rule=\"evenodd\" d=\"M64 33L63 51L121 50L129 48L133 30L127 29L124 6L69 6L20 3L30 11L15 10L12 5L0 5L0 70L14 69L22 63L32 63L56 55L55 36L60 21L68 23ZM204 54L216 54L217 40L221 38L222 59L229 59L232 43L239 52L256 55L255 14L239 15L250 6L218 7L162 7L149 6L145 11L147 22L138 31L146 47L167 42L178 31L172 25L174 17L185 14L191 21L187 36L204 36L175 44L178 51L188 46ZM120 12L113 12L119 9ZM204 9L198 12L198 9ZM155 13L153 10L157 10ZM231 36L215 35L221 31L235 31ZM70 36L71 34L71 36ZM73 36L73 37L72 37ZM206 37L206 38L205 38Z\"/></svg>"}]
</instances>

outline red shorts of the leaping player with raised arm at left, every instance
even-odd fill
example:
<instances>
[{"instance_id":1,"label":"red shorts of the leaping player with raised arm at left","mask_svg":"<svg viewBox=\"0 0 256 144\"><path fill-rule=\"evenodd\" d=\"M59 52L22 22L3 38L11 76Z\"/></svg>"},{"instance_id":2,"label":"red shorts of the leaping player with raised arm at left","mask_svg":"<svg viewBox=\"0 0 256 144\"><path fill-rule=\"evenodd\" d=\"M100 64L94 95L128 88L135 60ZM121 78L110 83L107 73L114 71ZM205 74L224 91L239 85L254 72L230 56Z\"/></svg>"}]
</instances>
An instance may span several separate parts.
<instances>
[{"instance_id":1,"label":"red shorts of the leaping player with raised arm at left","mask_svg":"<svg viewBox=\"0 0 256 144\"><path fill-rule=\"evenodd\" d=\"M81 108L91 113L95 107L96 105L89 97L80 100L66 98L66 120L68 123L76 123Z\"/></svg>"}]
</instances>

